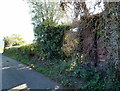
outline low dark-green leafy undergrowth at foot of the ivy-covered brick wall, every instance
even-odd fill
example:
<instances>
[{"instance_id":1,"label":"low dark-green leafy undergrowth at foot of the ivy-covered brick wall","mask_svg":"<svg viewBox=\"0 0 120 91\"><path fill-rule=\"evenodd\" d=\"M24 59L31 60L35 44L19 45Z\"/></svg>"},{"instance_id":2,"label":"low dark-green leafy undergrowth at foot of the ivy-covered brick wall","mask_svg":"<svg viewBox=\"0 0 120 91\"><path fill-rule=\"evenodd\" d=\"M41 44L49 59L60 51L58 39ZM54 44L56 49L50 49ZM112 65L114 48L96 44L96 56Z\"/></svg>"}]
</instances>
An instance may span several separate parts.
<instances>
[{"instance_id":1,"label":"low dark-green leafy undergrowth at foot of the ivy-covered brick wall","mask_svg":"<svg viewBox=\"0 0 120 91\"><path fill-rule=\"evenodd\" d=\"M119 89L120 82L116 79L115 73L99 71L97 68L75 67L72 73L73 77L82 79L81 89Z\"/></svg>"}]
</instances>

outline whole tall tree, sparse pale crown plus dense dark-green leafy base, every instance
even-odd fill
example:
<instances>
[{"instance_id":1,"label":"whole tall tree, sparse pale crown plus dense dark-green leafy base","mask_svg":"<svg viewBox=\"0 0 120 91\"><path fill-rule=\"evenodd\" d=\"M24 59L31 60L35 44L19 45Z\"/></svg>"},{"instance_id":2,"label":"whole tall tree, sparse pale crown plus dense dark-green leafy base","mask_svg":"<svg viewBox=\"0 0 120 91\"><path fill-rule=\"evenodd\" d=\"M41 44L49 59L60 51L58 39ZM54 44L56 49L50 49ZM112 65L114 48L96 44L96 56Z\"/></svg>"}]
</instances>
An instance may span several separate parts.
<instances>
[{"instance_id":1,"label":"whole tall tree, sparse pale crown plus dense dark-green leafy base","mask_svg":"<svg viewBox=\"0 0 120 91\"><path fill-rule=\"evenodd\" d=\"M59 4L56 2L28 1L34 25L35 39L40 45L42 55L47 59L63 57L61 51L63 35L68 26L58 24L58 20L64 14L61 12Z\"/></svg>"}]
</instances>

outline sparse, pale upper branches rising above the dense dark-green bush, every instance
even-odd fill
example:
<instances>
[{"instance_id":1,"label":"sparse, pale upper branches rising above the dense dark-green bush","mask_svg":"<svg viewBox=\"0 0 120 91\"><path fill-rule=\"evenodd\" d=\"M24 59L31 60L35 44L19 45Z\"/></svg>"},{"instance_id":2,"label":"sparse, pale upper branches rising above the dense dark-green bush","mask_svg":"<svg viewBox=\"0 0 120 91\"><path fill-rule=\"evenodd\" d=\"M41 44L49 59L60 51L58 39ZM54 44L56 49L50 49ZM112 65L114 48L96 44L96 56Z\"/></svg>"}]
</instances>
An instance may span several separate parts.
<instances>
[{"instance_id":1,"label":"sparse, pale upper branches rising above the dense dark-green bush","mask_svg":"<svg viewBox=\"0 0 120 91\"><path fill-rule=\"evenodd\" d=\"M28 0L27 3L29 4L32 22L35 27L40 25L45 20L47 20L48 24L51 21L58 22L64 15L58 2Z\"/></svg>"}]
</instances>

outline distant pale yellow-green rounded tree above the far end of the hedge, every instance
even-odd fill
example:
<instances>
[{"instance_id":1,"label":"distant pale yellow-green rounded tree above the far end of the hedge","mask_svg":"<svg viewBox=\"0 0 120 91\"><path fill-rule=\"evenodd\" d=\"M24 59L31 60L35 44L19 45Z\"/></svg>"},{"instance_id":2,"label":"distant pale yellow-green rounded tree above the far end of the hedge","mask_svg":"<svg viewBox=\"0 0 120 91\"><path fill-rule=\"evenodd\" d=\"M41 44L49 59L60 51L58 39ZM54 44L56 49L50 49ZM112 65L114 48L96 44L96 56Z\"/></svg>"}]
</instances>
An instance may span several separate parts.
<instances>
[{"instance_id":1,"label":"distant pale yellow-green rounded tree above the far end of the hedge","mask_svg":"<svg viewBox=\"0 0 120 91\"><path fill-rule=\"evenodd\" d=\"M5 41L5 47L22 45L26 43L24 39L21 37L21 35L19 34L13 34L11 36L6 36L4 37L4 41Z\"/></svg>"}]
</instances>

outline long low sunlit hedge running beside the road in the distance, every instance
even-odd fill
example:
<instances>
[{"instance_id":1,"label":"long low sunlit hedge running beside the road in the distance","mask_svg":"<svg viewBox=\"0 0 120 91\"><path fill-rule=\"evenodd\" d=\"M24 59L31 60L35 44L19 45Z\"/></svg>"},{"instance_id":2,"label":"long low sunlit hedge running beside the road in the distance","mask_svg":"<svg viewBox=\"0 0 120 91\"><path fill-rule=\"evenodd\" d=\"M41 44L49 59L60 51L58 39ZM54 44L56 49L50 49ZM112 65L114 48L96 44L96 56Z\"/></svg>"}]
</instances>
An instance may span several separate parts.
<instances>
[{"instance_id":1,"label":"long low sunlit hedge running beside the road in the distance","mask_svg":"<svg viewBox=\"0 0 120 91\"><path fill-rule=\"evenodd\" d=\"M37 43L5 49L5 54L27 56L29 58L34 56L41 57L41 51L37 48Z\"/></svg>"}]
</instances>

